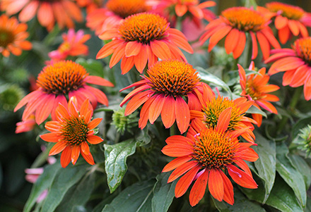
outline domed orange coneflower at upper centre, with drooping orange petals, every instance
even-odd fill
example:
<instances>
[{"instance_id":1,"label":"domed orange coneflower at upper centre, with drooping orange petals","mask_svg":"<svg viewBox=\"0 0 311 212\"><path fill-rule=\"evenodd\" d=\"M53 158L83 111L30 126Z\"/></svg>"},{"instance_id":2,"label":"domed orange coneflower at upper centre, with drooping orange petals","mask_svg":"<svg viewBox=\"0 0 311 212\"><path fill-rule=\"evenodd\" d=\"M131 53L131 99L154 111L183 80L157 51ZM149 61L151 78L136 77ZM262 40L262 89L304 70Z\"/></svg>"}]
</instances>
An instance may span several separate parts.
<instances>
[{"instance_id":1,"label":"domed orange coneflower at upper centre, with drooping orange petals","mask_svg":"<svg viewBox=\"0 0 311 212\"><path fill-rule=\"evenodd\" d=\"M112 42L100 49L97 58L112 54L110 68L122 59L122 74L129 72L134 64L142 73L147 61L150 67L158 58L187 61L178 47L193 53L182 32L170 28L165 18L153 13L131 15L119 27L102 32L100 39L112 39Z\"/></svg>"}]
</instances>

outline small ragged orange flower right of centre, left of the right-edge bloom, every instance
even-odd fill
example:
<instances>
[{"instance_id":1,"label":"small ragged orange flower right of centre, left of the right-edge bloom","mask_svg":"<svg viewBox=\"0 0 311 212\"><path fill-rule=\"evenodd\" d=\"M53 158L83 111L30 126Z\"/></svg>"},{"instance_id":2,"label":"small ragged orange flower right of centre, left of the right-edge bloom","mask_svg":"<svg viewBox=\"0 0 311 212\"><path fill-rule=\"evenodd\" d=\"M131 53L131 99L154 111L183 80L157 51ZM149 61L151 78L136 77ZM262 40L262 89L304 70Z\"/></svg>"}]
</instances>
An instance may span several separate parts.
<instances>
[{"instance_id":1,"label":"small ragged orange flower right of centre, left of the right-edge bloom","mask_svg":"<svg viewBox=\"0 0 311 212\"><path fill-rule=\"evenodd\" d=\"M260 109L260 107L266 109L271 113L278 114L276 108L269 101L278 101L278 96L269 94L275 92L280 87L277 85L266 85L269 82L269 75L266 75L266 68L258 70L259 74L246 75L244 68L237 64L239 67L240 85L242 87L241 96L246 96L249 100L254 100L253 106ZM250 64L250 70L254 70L254 62ZM257 126L262 125L262 115L252 113L252 118L256 120Z\"/></svg>"}]
</instances>

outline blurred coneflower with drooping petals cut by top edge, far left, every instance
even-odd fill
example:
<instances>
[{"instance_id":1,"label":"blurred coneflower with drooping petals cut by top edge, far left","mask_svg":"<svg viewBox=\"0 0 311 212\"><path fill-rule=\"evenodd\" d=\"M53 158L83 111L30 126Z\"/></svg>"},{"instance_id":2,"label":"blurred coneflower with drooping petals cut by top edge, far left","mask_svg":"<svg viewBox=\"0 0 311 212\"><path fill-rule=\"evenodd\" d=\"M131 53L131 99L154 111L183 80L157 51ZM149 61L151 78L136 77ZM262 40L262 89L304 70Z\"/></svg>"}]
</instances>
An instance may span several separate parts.
<instances>
[{"instance_id":1,"label":"blurred coneflower with drooping petals cut by top edge, far left","mask_svg":"<svg viewBox=\"0 0 311 212\"><path fill-rule=\"evenodd\" d=\"M80 8L71 0L2 0L1 10L6 11L6 15L20 12L21 22L33 19L37 13L37 20L47 30L52 30L55 22L60 28L73 28L73 20L83 20Z\"/></svg>"}]
</instances>

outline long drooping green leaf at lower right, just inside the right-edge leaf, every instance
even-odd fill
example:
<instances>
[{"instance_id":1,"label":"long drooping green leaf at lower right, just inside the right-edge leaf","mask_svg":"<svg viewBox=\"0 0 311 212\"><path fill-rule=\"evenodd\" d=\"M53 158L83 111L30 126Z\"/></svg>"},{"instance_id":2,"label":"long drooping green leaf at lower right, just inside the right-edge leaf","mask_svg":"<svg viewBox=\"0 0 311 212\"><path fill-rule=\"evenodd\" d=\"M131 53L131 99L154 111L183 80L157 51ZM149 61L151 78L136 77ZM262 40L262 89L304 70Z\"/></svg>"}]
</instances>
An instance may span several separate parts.
<instances>
[{"instance_id":1,"label":"long drooping green leaf at lower right, just inside the right-edge leaf","mask_svg":"<svg viewBox=\"0 0 311 212\"><path fill-rule=\"evenodd\" d=\"M276 148L276 170L293 189L300 204L305 207L307 201L305 181L303 180L303 175L295 169L291 159L288 157L288 148L285 144L279 144Z\"/></svg>"}]
</instances>

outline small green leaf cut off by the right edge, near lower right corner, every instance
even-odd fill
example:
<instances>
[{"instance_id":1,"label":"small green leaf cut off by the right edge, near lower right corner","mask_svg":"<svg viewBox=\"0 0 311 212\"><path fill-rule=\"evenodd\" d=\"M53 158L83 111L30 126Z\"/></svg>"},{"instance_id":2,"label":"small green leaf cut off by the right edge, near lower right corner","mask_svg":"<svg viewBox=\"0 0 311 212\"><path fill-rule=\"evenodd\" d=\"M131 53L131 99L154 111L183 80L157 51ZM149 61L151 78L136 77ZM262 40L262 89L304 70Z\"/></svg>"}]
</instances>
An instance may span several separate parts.
<instances>
[{"instance_id":1,"label":"small green leaf cut off by the right edge, near lower right corner","mask_svg":"<svg viewBox=\"0 0 311 212\"><path fill-rule=\"evenodd\" d=\"M307 165L305 160L297 155L288 155L291 158L293 166L303 175L303 180L305 180L305 189L308 189L311 184L311 172L310 167Z\"/></svg>"}]
</instances>

